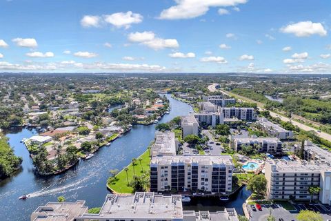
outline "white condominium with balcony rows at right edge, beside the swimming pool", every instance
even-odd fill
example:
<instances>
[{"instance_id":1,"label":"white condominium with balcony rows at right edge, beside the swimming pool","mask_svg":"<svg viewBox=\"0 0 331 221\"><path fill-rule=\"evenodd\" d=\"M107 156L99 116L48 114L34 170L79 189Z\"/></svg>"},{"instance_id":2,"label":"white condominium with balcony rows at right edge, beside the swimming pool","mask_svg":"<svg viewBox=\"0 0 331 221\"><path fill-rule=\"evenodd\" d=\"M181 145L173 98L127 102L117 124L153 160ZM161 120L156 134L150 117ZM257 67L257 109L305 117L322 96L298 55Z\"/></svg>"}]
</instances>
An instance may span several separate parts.
<instances>
[{"instance_id":1,"label":"white condominium with balcony rows at right edge, beside the swimming pool","mask_svg":"<svg viewBox=\"0 0 331 221\"><path fill-rule=\"evenodd\" d=\"M270 160L265 163L267 193L270 199L310 200L309 187L319 186L312 200L331 204L330 163Z\"/></svg>"}]
</instances>

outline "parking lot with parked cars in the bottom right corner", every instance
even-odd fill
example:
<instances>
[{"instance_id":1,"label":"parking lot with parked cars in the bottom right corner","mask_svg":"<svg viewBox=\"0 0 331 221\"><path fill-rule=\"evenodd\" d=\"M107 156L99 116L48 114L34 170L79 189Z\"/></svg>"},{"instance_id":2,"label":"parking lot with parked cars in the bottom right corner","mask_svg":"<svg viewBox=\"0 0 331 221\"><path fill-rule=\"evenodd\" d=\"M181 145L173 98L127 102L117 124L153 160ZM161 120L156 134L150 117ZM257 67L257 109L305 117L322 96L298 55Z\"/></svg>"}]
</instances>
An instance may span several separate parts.
<instances>
[{"instance_id":1,"label":"parking lot with parked cars in the bottom right corner","mask_svg":"<svg viewBox=\"0 0 331 221\"><path fill-rule=\"evenodd\" d=\"M306 207L304 204L295 204L294 207L297 211L288 211L283 208L280 204L261 204L262 211L259 211L256 206L254 205L256 211L253 211L251 205L247 205L248 212L251 214L251 221L265 221L268 218L268 215L271 214L276 218L278 221L282 218L284 221L292 221L297 220L296 217L301 210L310 209L316 212L321 213L323 220L331 220L331 206L321 206L318 204L311 205Z\"/></svg>"}]
</instances>

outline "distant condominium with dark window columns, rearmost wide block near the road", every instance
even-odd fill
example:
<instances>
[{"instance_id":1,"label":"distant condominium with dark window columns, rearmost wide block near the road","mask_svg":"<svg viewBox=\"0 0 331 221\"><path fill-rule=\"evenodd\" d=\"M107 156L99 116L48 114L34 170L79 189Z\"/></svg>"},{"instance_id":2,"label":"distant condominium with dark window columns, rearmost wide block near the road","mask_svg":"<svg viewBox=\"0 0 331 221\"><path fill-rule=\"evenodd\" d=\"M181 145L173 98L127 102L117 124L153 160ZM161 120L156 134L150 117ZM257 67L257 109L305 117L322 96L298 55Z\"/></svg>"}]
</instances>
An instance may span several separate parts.
<instances>
[{"instance_id":1,"label":"distant condominium with dark window columns, rearmost wide block near the road","mask_svg":"<svg viewBox=\"0 0 331 221\"><path fill-rule=\"evenodd\" d=\"M219 107L219 113L223 113L225 118L237 117L238 119L252 121L257 119L257 115L254 108L221 108Z\"/></svg>"}]
</instances>

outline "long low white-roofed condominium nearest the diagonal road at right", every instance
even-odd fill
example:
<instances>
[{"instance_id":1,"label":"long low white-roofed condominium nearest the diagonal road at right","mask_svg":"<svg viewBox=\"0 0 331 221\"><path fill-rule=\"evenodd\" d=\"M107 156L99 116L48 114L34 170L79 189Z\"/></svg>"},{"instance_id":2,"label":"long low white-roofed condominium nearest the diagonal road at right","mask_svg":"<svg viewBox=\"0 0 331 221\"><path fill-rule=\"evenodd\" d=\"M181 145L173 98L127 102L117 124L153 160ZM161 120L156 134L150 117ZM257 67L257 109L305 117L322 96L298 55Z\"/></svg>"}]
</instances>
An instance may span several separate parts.
<instances>
[{"instance_id":1,"label":"long low white-roofed condominium nearest the diagonal road at right","mask_svg":"<svg viewBox=\"0 0 331 221\"><path fill-rule=\"evenodd\" d=\"M268 119L259 118L257 124L263 131L272 137L278 137L280 140L288 140L293 138L293 131L285 130L278 124L268 121Z\"/></svg>"}]
</instances>

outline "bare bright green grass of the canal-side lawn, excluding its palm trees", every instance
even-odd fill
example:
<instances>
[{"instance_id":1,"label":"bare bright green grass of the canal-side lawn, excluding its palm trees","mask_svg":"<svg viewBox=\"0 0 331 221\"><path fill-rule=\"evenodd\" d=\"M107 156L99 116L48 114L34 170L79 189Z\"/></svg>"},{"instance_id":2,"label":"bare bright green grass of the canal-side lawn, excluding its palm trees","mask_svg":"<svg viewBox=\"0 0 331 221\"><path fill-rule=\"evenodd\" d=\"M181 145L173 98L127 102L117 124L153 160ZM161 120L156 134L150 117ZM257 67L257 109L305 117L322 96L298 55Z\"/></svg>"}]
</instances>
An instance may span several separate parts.
<instances>
[{"instance_id":1,"label":"bare bright green grass of the canal-side lawn, excluding its palm trees","mask_svg":"<svg viewBox=\"0 0 331 221\"><path fill-rule=\"evenodd\" d=\"M139 162L139 158L142 159L141 164ZM150 155L149 151L146 150L145 153L137 157L137 162L134 166L134 171L136 175L141 175L141 166L143 167L143 171L150 170ZM108 183L108 186L117 193L133 193L133 189L128 186L128 181L130 182L133 178L133 166L129 164L127 166L128 170L128 180L126 177L126 171L124 169L119 172L115 177L112 183Z\"/></svg>"}]
</instances>

